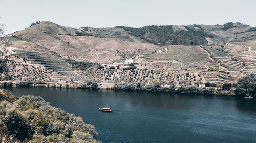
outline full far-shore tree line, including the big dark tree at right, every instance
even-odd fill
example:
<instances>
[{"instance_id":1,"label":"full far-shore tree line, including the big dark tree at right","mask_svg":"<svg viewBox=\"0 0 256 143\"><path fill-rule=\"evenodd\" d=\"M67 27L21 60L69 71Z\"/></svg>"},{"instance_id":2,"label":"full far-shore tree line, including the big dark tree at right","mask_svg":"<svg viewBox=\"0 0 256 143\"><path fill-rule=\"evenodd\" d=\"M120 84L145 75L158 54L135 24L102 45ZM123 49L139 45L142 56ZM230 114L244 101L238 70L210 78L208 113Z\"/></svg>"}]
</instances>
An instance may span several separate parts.
<instances>
[{"instance_id":1,"label":"full far-shore tree line, including the big dark tree at right","mask_svg":"<svg viewBox=\"0 0 256 143\"><path fill-rule=\"evenodd\" d=\"M244 76L236 84L223 83L218 85L206 82L204 85L180 85L170 83L162 85L161 82L145 84L145 82L136 84L117 84L117 83L87 83L74 82L63 84L61 82L1 82L2 87L47 87L47 88L76 88L76 89L111 89L111 90L132 90L132 91L150 91L166 93L197 93L214 94L228 96L255 96L256 95L256 76L250 74Z\"/></svg>"}]
</instances>

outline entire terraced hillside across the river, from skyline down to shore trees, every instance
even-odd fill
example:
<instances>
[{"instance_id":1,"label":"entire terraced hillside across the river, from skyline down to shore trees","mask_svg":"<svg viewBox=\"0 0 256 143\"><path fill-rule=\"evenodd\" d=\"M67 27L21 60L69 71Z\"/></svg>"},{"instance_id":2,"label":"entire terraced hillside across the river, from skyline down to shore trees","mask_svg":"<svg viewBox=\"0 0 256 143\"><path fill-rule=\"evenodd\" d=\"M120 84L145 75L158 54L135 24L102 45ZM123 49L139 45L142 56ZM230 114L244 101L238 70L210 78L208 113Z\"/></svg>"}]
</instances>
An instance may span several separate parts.
<instances>
[{"instance_id":1,"label":"entire terraced hillside across the river, from skyline down to shore trees","mask_svg":"<svg viewBox=\"0 0 256 143\"><path fill-rule=\"evenodd\" d=\"M1 81L99 88L236 83L256 73L255 34L241 23L76 29L45 21L2 38ZM133 64L104 67L125 60Z\"/></svg>"}]
</instances>

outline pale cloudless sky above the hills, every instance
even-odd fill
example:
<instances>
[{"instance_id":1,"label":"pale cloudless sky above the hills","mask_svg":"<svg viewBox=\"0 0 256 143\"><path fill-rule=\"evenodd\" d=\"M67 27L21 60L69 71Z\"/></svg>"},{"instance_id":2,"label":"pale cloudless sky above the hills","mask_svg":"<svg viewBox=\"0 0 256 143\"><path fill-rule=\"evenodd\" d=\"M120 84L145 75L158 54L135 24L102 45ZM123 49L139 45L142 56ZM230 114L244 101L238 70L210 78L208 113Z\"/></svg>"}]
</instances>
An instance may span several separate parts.
<instances>
[{"instance_id":1,"label":"pale cloudless sky above the hills","mask_svg":"<svg viewBox=\"0 0 256 143\"><path fill-rule=\"evenodd\" d=\"M146 25L224 24L256 26L255 0L1 0L5 34L35 21L79 28Z\"/></svg>"}]
</instances>

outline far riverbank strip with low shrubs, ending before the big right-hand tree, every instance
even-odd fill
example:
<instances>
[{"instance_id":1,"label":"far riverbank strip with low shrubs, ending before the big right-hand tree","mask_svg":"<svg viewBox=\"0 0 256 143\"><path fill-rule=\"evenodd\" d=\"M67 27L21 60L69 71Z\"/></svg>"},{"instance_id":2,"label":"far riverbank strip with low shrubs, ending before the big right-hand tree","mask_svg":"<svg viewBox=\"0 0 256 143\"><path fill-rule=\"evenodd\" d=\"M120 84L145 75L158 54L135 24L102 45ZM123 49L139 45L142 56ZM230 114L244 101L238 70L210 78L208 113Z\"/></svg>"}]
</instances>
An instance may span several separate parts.
<instances>
[{"instance_id":1,"label":"far riverbank strip with low shrubs, ending before the big right-hand tree","mask_svg":"<svg viewBox=\"0 0 256 143\"><path fill-rule=\"evenodd\" d=\"M70 89L109 89L109 90L129 90L129 91L149 91L165 93L193 93L210 94L221 96L235 96L234 88L225 89L223 87L205 87L202 85L161 85L160 83L145 85L137 84L115 84L115 83L66 83L63 82L0 82L1 87L46 87L46 88L70 88Z\"/></svg>"}]
</instances>

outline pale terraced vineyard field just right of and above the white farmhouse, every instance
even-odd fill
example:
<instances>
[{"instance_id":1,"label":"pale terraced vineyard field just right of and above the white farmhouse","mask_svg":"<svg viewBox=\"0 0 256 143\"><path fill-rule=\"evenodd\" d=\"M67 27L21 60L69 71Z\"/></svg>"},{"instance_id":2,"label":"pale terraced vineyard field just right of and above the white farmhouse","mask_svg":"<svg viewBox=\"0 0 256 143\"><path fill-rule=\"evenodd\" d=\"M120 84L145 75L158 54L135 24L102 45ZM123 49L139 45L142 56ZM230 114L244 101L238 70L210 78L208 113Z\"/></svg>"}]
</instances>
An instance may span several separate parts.
<instances>
[{"instance_id":1,"label":"pale terraced vineyard field just right of and above the white farmhouse","mask_svg":"<svg viewBox=\"0 0 256 143\"><path fill-rule=\"evenodd\" d=\"M184 71L205 71L209 65L219 65L198 46L168 46L167 48L168 51L165 47L156 49L156 51L161 50L161 53L154 53L155 50L147 51L140 58L140 62Z\"/></svg>"}]
</instances>

